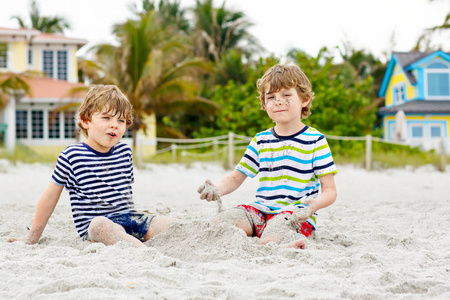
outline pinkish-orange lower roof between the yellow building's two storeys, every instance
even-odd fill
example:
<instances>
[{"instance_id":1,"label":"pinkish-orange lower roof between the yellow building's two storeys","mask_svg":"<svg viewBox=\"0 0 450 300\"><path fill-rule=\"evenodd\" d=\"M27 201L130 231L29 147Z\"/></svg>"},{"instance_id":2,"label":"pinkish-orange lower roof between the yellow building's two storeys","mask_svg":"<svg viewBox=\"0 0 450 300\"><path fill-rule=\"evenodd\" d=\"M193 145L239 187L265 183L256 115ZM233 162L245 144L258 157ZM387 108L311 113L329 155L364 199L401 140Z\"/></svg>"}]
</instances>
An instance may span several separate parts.
<instances>
[{"instance_id":1,"label":"pinkish-orange lower roof between the yellow building's two storeys","mask_svg":"<svg viewBox=\"0 0 450 300\"><path fill-rule=\"evenodd\" d=\"M30 77L25 78L25 81L30 86L32 98L79 98L80 96L69 95L69 91L74 87L84 86L82 83L71 83L46 77ZM30 96L26 95L25 98L30 99Z\"/></svg>"}]
</instances>

